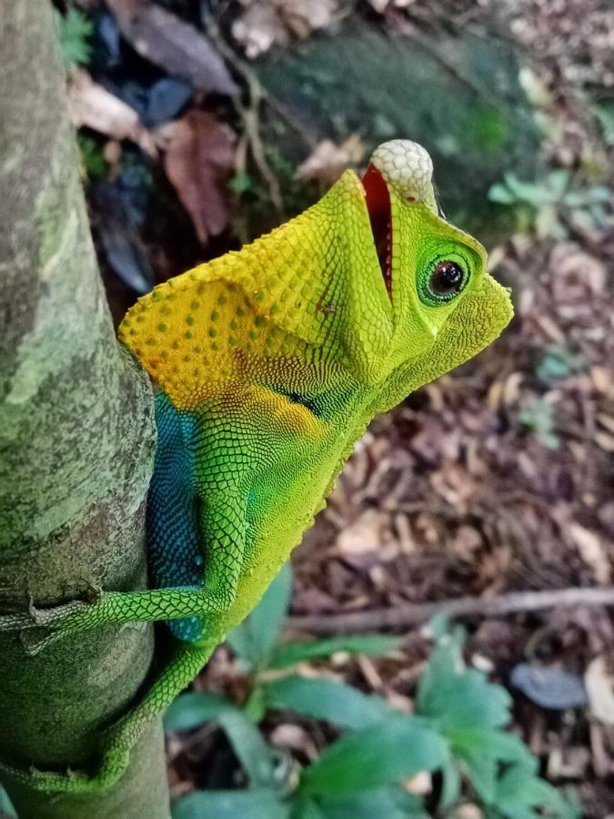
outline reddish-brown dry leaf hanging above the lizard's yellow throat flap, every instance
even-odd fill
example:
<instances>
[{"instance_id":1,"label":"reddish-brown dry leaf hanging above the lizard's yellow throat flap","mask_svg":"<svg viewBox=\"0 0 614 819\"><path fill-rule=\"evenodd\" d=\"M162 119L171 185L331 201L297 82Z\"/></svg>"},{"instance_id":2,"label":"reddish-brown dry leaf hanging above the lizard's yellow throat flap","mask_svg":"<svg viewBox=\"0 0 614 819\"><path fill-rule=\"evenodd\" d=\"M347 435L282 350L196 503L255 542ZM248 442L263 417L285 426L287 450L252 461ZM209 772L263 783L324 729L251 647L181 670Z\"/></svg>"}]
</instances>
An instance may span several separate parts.
<instances>
[{"instance_id":1,"label":"reddish-brown dry leaf hanging above the lizard's yellow throat flap","mask_svg":"<svg viewBox=\"0 0 614 819\"><path fill-rule=\"evenodd\" d=\"M230 220L226 180L235 166L236 135L205 111L190 111L166 131L166 176L192 218L201 242Z\"/></svg>"}]
</instances>

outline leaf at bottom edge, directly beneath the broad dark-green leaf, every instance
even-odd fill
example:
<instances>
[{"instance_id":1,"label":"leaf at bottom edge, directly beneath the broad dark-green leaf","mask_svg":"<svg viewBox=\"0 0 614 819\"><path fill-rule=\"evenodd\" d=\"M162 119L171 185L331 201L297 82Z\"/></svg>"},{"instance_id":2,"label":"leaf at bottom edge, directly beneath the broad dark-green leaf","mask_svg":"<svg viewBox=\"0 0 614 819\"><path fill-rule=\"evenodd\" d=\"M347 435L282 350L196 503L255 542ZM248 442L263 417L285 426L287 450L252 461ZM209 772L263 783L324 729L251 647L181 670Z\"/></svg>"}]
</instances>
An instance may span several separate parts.
<instances>
[{"instance_id":1,"label":"leaf at bottom edge, directly beneath the broad dark-green leaf","mask_svg":"<svg viewBox=\"0 0 614 819\"><path fill-rule=\"evenodd\" d=\"M428 819L419 797L394 785L345 799L320 797L317 806L326 819Z\"/></svg>"}]
</instances>

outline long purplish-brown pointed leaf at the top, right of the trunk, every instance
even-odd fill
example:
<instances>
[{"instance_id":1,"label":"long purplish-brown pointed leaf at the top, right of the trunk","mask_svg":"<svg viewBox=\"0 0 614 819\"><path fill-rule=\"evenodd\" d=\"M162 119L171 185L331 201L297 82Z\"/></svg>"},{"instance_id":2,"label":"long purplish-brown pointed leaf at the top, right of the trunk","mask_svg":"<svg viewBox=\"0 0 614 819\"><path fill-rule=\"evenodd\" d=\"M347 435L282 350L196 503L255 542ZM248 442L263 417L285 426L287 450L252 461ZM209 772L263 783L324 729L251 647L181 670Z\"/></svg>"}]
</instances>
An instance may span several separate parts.
<instances>
[{"instance_id":1,"label":"long purplish-brown pointed leaf at the top, right of the trunk","mask_svg":"<svg viewBox=\"0 0 614 819\"><path fill-rule=\"evenodd\" d=\"M206 94L238 93L224 60L194 26L148 0L107 0L106 5L138 54Z\"/></svg>"}]
</instances>

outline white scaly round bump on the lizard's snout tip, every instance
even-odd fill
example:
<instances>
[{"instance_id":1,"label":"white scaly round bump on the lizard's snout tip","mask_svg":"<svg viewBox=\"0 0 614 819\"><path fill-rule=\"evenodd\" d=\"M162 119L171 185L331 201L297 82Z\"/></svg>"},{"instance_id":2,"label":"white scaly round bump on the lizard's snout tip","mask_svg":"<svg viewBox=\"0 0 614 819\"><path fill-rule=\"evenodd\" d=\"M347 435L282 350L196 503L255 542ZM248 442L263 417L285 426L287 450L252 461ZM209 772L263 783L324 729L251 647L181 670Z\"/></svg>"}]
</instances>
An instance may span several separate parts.
<instances>
[{"instance_id":1,"label":"white scaly round bump on the lizard's snout tip","mask_svg":"<svg viewBox=\"0 0 614 819\"><path fill-rule=\"evenodd\" d=\"M388 185L408 201L424 202L437 212L433 190L433 161L428 151L409 139L391 139L378 146L371 157Z\"/></svg>"}]
</instances>

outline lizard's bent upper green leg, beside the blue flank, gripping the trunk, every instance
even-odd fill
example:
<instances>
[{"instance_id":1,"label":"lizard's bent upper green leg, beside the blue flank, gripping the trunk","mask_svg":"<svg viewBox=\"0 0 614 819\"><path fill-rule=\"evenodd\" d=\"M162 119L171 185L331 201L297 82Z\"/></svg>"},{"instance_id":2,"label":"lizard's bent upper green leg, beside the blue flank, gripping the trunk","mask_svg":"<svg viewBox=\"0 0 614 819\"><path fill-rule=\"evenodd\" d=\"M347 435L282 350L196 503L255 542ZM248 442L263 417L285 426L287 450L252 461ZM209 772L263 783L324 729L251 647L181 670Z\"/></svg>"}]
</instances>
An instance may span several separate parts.
<instances>
[{"instance_id":1,"label":"lizard's bent upper green leg, beside the blue flank, gripping the trunk","mask_svg":"<svg viewBox=\"0 0 614 819\"><path fill-rule=\"evenodd\" d=\"M200 586L148 591L99 591L91 602L73 601L51 609L30 605L28 612L0 617L0 631L43 629L41 638L26 639L37 653L65 634L98 626L215 615L235 599L245 542L247 496L237 491L214 492L200 505L200 533L205 553Z\"/></svg>"}]
</instances>

